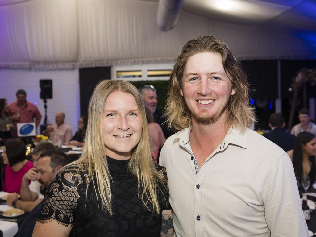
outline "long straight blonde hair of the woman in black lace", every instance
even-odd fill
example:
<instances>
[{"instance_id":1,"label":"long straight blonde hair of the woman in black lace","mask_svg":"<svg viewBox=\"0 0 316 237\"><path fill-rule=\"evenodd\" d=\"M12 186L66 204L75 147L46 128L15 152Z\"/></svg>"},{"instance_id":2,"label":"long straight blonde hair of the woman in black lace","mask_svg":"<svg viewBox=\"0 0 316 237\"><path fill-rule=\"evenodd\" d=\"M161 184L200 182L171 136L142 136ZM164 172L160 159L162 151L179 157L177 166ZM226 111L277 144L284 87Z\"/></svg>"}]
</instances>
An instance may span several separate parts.
<instances>
[{"instance_id":1,"label":"long straight blonde hair of the woman in black lace","mask_svg":"<svg viewBox=\"0 0 316 237\"><path fill-rule=\"evenodd\" d=\"M68 167L78 167L78 173L87 170L86 201L88 186L92 184L97 199L100 198L102 208L112 215L112 178L102 139L102 117L106 99L114 91L131 93L137 102L143 131L139 143L132 150L128 169L137 178L139 199L148 210L156 211L159 214L157 191L160 192L161 189L158 183L160 182L164 187L166 184L157 172L150 155L149 133L142 96L131 83L122 80L103 80L95 87L89 102L88 126L83 153Z\"/></svg>"}]
</instances>

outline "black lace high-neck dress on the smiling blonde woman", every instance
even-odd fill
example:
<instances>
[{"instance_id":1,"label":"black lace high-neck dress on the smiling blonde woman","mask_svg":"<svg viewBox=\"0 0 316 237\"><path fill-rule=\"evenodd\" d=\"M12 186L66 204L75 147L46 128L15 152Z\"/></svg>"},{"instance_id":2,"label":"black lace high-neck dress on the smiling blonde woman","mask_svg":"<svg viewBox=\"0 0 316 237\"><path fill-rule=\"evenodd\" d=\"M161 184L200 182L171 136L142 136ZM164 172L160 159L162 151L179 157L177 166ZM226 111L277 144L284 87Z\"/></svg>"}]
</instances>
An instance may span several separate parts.
<instances>
[{"instance_id":1,"label":"black lace high-neck dress on the smiling blonde woman","mask_svg":"<svg viewBox=\"0 0 316 237\"><path fill-rule=\"evenodd\" d=\"M112 216L101 210L100 198L98 206L92 185L88 188L86 206L87 174L77 175L75 170L66 169L58 173L49 185L38 222L46 223L55 219L63 226L73 225L70 236L158 237L161 212L152 213L139 201L137 179L127 171L129 160L119 161L107 157L107 161L113 179ZM165 168L156 168L161 177L167 180ZM161 211L169 210L168 191L162 185L159 186L164 190L163 197L159 196Z\"/></svg>"}]
</instances>

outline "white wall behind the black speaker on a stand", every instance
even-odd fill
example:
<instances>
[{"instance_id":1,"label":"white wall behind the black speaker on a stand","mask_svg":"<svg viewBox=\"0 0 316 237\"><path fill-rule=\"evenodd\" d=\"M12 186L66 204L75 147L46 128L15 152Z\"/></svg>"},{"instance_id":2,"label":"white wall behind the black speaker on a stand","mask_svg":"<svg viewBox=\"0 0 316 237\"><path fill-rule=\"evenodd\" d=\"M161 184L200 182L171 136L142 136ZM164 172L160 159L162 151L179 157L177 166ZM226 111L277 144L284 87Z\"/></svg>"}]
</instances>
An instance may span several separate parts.
<instances>
[{"instance_id":1,"label":"white wall behind the black speaker on a stand","mask_svg":"<svg viewBox=\"0 0 316 237\"><path fill-rule=\"evenodd\" d=\"M27 100L37 103L42 114L40 124L44 122L44 102L40 99L40 79L52 79L53 99L47 100L47 118L50 123L55 123L55 114L63 111L66 114L65 123L70 125L73 133L78 130L80 117L79 100L79 71L78 70L51 70L34 71L22 69L0 69L0 98L5 98L8 103L16 101L15 93L24 89ZM39 128L38 128L39 134Z\"/></svg>"}]
</instances>

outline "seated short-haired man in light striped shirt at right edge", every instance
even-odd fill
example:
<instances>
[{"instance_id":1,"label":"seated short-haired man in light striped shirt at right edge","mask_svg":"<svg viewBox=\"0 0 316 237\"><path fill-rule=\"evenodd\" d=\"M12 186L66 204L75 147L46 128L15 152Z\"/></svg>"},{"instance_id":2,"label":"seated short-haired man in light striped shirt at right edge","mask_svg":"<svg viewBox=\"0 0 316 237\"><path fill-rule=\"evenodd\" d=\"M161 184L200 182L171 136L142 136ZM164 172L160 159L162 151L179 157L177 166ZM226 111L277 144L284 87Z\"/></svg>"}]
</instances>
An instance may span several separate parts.
<instances>
[{"instance_id":1,"label":"seated short-haired man in light striped shirt at right edge","mask_svg":"<svg viewBox=\"0 0 316 237\"><path fill-rule=\"evenodd\" d=\"M298 118L300 119L300 123L292 128L292 134L297 137L300 132L307 131L316 135L316 125L310 121L311 115L308 109L301 109L298 112Z\"/></svg>"}]
</instances>

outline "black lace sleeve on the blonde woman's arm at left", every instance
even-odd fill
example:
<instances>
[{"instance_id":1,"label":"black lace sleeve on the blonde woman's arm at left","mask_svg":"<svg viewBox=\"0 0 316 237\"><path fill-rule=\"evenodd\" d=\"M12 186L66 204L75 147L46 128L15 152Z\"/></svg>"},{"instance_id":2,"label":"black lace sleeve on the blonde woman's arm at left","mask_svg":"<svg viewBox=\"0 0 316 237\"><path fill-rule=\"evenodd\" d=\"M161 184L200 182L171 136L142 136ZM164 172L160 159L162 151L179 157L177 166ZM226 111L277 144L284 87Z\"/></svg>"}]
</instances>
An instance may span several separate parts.
<instances>
[{"instance_id":1,"label":"black lace sleeve on the blonde woman's arm at left","mask_svg":"<svg viewBox=\"0 0 316 237\"><path fill-rule=\"evenodd\" d=\"M86 182L87 175L78 175L75 170L59 172L47 188L37 221L47 223L54 219L62 226L72 226L78 199Z\"/></svg>"}]
</instances>

